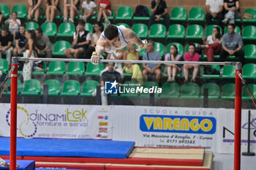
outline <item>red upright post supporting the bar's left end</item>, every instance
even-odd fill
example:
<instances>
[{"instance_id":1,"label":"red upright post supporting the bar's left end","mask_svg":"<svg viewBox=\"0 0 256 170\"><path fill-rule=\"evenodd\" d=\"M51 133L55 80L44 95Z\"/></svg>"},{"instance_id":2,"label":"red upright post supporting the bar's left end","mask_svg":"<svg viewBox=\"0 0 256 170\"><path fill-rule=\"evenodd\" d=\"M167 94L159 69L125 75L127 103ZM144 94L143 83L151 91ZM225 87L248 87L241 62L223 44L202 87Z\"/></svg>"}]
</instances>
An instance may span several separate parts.
<instances>
[{"instance_id":1,"label":"red upright post supporting the bar's left end","mask_svg":"<svg viewBox=\"0 0 256 170\"><path fill-rule=\"evenodd\" d=\"M12 58L13 66L15 69L11 74L10 170L16 169L18 58Z\"/></svg>"}]
</instances>

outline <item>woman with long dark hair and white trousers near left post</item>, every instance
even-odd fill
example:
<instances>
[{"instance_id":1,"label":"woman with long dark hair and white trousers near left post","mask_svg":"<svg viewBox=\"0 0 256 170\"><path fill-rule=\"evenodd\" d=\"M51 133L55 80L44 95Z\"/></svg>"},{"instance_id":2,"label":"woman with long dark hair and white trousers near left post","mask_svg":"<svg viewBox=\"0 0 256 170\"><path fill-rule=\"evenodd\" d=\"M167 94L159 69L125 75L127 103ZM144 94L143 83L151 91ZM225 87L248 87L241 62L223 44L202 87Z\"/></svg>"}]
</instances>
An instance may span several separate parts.
<instances>
[{"instance_id":1,"label":"woman with long dark hair and white trousers near left post","mask_svg":"<svg viewBox=\"0 0 256 170\"><path fill-rule=\"evenodd\" d=\"M35 58L37 57L37 53L35 53L36 47L36 33L34 30L26 31L26 39L28 42L26 43L26 51L23 53L23 57L26 58ZM25 61L23 66L23 82L31 79L33 69L33 61Z\"/></svg>"}]
</instances>

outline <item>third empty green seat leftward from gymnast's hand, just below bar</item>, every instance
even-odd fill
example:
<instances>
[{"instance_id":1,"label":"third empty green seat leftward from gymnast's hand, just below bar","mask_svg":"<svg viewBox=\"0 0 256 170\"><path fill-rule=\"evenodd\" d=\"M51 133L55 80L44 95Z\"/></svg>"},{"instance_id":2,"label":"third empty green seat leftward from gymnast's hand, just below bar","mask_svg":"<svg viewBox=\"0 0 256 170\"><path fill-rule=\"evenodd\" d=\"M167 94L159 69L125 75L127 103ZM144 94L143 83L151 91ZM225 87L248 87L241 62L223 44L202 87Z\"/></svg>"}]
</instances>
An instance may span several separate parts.
<instances>
[{"instance_id":1,"label":"third empty green seat leftward from gymnast's hand, just below bar","mask_svg":"<svg viewBox=\"0 0 256 170\"><path fill-rule=\"evenodd\" d=\"M64 61L50 61L47 75L58 75L63 76L65 72L65 62Z\"/></svg>"}]
</instances>

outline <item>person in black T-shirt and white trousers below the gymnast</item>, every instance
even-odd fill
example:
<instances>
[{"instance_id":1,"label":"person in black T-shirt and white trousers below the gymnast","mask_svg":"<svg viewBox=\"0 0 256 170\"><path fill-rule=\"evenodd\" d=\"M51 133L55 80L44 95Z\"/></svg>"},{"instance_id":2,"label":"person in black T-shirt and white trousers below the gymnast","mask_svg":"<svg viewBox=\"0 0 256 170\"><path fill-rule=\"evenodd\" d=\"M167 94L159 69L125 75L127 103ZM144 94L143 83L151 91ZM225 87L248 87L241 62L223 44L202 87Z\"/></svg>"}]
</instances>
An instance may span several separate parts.
<instances>
[{"instance_id":1,"label":"person in black T-shirt and white trousers below the gymnast","mask_svg":"<svg viewBox=\"0 0 256 170\"><path fill-rule=\"evenodd\" d=\"M105 93L105 82L121 83L121 75L114 70L114 63L108 63L108 71L100 77L102 105L108 105L108 95Z\"/></svg>"}]
</instances>

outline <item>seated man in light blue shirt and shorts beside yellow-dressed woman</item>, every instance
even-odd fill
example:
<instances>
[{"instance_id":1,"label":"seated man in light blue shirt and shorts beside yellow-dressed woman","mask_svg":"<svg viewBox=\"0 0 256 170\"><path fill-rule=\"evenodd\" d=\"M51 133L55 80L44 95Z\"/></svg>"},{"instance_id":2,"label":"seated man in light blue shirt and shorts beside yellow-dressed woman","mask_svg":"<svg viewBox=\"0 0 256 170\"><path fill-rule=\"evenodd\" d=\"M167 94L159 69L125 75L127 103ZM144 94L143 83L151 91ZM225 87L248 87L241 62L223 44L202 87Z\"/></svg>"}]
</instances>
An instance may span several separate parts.
<instances>
[{"instance_id":1,"label":"seated man in light blue shirt and shorts beside yellow-dressed woman","mask_svg":"<svg viewBox=\"0 0 256 170\"><path fill-rule=\"evenodd\" d=\"M146 47L147 52L143 54L143 61L161 61L161 54L154 51L154 42L152 40L148 41ZM148 74L156 74L156 82L159 83L161 77L161 70L159 69L160 63L143 63L143 80L147 81Z\"/></svg>"}]
</instances>

